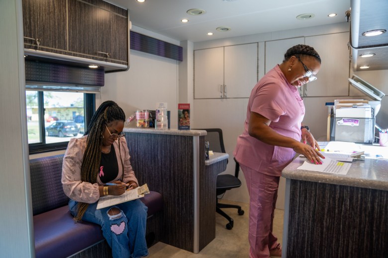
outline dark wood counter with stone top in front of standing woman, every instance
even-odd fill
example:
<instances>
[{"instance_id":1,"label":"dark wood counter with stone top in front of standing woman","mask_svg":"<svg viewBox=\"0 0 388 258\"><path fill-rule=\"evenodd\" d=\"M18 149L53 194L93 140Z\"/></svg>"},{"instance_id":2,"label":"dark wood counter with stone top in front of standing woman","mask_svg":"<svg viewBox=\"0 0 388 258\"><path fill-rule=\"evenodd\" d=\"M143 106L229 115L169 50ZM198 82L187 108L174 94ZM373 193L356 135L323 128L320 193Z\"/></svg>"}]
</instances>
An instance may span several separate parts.
<instances>
[{"instance_id":1,"label":"dark wood counter with stone top in front of standing woman","mask_svg":"<svg viewBox=\"0 0 388 258\"><path fill-rule=\"evenodd\" d=\"M304 160L282 172L283 258L387 257L388 160L355 160L347 175L297 170Z\"/></svg>"}]
</instances>

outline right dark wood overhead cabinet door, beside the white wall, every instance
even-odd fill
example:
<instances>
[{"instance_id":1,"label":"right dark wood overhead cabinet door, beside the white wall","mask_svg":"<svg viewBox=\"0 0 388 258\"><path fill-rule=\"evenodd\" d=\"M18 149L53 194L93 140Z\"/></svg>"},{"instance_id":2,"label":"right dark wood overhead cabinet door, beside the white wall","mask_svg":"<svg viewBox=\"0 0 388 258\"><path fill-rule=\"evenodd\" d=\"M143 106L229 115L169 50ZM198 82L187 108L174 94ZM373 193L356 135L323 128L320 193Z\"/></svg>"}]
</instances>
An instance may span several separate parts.
<instances>
[{"instance_id":1,"label":"right dark wood overhead cabinet door, beside the white wall","mask_svg":"<svg viewBox=\"0 0 388 258\"><path fill-rule=\"evenodd\" d=\"M69 0L68 16L69 51L128 62L127 17L79 0Z\"/></svg>"}]
</instances>

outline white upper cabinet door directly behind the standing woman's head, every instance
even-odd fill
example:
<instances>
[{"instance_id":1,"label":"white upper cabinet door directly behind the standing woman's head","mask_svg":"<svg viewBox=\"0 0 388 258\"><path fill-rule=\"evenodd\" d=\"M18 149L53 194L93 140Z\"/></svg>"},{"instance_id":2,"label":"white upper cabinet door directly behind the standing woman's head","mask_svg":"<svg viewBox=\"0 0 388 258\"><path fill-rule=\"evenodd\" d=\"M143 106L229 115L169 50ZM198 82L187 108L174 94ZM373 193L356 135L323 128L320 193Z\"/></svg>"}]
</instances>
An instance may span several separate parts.
<instances>
[{"instance_id":1,"label":"white upper cabinet door directly behind the standing woman's head","mask_svg":"<svg viewBox=\"0 0 388 258\"><path fill-rule=\"evenodd\" d=\"M292 46L304 44L304 37L282 39L266 42L266 63L265 72L283 63L284 54ZM303 96L303 87L298 88L300 96Z\"/></svg>"}]
</instances>

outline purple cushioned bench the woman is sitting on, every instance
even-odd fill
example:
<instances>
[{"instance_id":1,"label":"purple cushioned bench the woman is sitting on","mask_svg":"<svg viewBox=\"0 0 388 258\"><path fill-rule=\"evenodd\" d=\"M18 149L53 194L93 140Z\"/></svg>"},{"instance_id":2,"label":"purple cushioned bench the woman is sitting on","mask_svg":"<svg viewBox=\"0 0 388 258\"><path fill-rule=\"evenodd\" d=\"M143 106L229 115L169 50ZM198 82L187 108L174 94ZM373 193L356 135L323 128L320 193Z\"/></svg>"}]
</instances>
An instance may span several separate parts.
<instances>
[{"instance_id":1,"label":"purple cushioned bench the woman is sitting on","mask_svg":"<svg viewBox=\"0 0 388 258\"><path fill-rule=\"evenodd\" d=\"M30 160L36 258L65 258L104 241L99 225L73 220L62 190L62 160L63 155ZM141 200L149 219L163 208L157 192L150 191Z\"/></svg>"}]
</instances>

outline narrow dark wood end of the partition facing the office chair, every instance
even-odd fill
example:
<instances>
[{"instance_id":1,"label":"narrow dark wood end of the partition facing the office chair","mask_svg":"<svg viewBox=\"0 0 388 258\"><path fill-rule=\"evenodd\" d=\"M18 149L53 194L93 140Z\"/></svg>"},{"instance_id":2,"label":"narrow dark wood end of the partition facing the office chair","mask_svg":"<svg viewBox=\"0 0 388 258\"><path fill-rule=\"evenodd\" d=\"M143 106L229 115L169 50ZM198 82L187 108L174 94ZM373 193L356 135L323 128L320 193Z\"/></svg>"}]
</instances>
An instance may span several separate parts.
<instances>
[{"instance_id":1,"label":"narrow dark wood end of the partition facing the office chair","mask_svg":"<svg viewBox=\"0 0 388 258\"><path fill-rule=\"evenodd\" d=\"M204 147L203 140L203 146L200 146L200 149L204 149ZM204 157L202 158L204 159ZM226 161L227 159L205 166L205 169L201 170L199 174L199 250L215 238L217 175L226 170Z\"/></svg>"}]
</instances>

